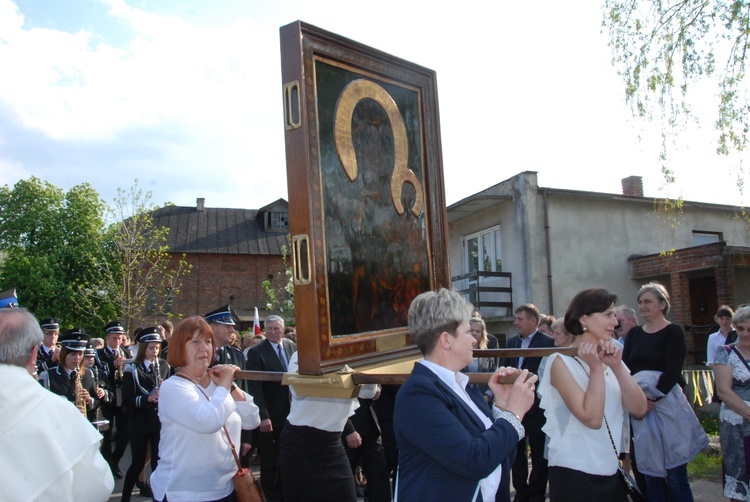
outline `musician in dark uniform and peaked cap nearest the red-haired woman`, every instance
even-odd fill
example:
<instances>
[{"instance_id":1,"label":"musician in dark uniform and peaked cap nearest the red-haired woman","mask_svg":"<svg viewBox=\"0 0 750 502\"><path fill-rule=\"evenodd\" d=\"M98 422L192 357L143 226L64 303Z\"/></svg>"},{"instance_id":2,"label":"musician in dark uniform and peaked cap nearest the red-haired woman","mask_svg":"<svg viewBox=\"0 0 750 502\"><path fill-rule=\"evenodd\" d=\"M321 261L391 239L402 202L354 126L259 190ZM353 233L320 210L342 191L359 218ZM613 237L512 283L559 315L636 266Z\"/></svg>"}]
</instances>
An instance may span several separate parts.
<instances>
[{"instance_id":1,"label":"musician in dark uniform and peaked cap nearest the red-haired woman","mask_svg":"<svg viewBox=\"0 0 750 502\"><path fill-rule=\"evenodd\" d=\"M138 332L138 354L125 366L122 380L122 404L128 410L128 431L132 462L125 474L122 500L130 500L133 485L138 485L141 496L151 496L147 483L138 481L151 445L151 470L156 469L159 459L159 387L169 376L169 364L159 359L161 333L156 327Z\"/></svg>"}]
</instances>

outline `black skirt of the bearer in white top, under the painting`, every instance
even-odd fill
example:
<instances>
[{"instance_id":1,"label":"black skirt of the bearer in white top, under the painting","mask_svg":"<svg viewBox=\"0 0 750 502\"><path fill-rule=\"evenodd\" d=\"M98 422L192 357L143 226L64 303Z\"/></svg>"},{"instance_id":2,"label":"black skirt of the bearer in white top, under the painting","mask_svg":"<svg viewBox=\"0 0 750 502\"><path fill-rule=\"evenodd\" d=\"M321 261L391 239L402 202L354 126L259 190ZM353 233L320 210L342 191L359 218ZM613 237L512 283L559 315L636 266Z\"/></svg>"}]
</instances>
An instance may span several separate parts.
<instances>
[{"instance_id":1,"label":"black skirt of the bearer in white top, under the painting","mask_svg":"<svg viewBox=\"0 0 750 502\"><path fill-rule=\"evenodd\" d=\"M284 425L279 439L284 502L356 502L354 475L340 432Z\"/></svg>"}]
</instances>

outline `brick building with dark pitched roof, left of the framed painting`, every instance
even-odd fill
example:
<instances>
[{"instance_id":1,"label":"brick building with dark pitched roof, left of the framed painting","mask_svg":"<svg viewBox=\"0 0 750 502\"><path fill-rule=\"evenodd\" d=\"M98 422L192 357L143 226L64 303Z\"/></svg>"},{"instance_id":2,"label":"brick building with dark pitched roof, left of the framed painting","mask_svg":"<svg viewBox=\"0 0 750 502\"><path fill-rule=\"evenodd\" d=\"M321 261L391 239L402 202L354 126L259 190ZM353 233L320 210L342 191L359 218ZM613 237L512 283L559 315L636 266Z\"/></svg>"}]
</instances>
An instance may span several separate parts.
<instances>
[{"instance_id":1,"label":"brick building with dark pitched roof, left of the framed painting","mask_svg":"<svg viewBox=\"0 0 750 502\"><path fill-rule=\"evenodd\" d=\"M289 205L279 199L260 209L209 208L205 199L192 207L166 206L152 213L154 225L169 228L167 245L178 260L192 265L179 293L166 304L175 319L202 315L231 305L241 330L252 326L255 307L264 319L267 298L261 283L286 283L284 253L289 250ZM161 319L166 312L159 295L147 307L144 318Z\"/></svg>"}]
</instances>

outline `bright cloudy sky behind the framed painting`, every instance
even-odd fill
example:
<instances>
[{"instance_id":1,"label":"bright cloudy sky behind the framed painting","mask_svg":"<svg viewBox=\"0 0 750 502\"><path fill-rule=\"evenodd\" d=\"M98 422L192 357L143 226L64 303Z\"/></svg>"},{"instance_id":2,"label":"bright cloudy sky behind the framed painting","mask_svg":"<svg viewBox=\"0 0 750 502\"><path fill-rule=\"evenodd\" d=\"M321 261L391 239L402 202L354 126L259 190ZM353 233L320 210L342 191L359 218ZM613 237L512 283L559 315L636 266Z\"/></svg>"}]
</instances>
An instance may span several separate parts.
<instances>
[{"instance_id":1,"label":"bright cloudy sky behind the framed painting","mask_svg":"<svg viewBox=\"0 0 750 502\"><path fill-rule=\"evenodd\" d=\"M743 202L710 116L661 191L658 135L630 118L599 2L436 5L0 0L0 185L287 198L279 28L302 20L437 72L449 204L526 170L545 187L619 193L638 175L647 196Z\"/></svg>"}]
</instances>

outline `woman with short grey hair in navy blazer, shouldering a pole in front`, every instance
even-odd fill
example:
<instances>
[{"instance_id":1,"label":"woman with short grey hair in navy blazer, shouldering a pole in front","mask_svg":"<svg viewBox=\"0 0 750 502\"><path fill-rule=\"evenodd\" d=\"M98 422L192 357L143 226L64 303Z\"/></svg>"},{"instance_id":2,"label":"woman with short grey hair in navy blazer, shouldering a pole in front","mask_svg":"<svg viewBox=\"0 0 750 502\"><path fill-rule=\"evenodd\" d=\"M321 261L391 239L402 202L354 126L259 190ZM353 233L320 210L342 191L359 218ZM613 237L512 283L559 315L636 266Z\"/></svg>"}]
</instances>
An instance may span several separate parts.
<instances>
[{"instance_id":1,"label":"woman with short grey hair in navy blazer, shouldering a pole in front","mask_svg":"<svg viewBox=\"0 0 750 502\"><path fill-rule=\"evenodd\" d=\"M409 331L424 359L396 396L397 502L510 498L508 472L537 377L527 380L527 370L499 368L489 382L491 409L467 389L461 369L472 362L476 344L469 333L471 313L461 295L446 289L422 293L409 307ZM516 373L514 384L498 382L498 376Z\"/></svg>"}]
</instances>

